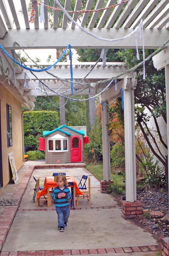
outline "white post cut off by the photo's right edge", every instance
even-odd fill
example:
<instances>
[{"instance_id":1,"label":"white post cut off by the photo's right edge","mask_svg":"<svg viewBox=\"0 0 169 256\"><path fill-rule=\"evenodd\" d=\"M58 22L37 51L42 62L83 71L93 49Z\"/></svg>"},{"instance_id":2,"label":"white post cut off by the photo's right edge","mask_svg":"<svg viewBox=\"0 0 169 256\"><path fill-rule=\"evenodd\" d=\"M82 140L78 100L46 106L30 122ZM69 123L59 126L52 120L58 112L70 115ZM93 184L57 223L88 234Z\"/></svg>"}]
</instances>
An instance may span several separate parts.
<instances>
[{"instance_id":1,"label":"white post cut off by the photo's right edge","mask_svg":"<svg viewBox=\"0 0 169 256\"><path fill-rule=\"evenodd\" d=\"M168 176L169 176L169 65L165 66L165 88L166 88ZM169 190L169 179L168 179L168 190Z\"/></svg>"}]
</instances>

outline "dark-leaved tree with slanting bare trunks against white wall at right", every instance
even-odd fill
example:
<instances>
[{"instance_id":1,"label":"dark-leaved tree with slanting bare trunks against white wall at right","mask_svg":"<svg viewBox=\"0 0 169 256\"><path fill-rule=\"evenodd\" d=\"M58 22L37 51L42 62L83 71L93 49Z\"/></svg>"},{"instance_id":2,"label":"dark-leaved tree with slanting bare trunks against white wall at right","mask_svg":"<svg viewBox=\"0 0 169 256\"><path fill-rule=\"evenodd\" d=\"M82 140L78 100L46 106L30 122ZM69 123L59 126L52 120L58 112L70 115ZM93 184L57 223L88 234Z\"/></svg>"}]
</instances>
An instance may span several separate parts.
<instances>
[{"instance_id":1,"label":"dark-leaved tree with slanting bare trunks against white wall at right","mask_svg":"<svg viewBox=\"0 0 169 256\"><path fill-rule=\"evenodd\" d=\"M145 57L150 55L153 51L154 50L145 50ZM142 53L141 50L140 53ZM138 63L135 49L122 49L118 54L129 68ZM142 78L142 67L139 67L136 71L137 87L134 90L136 122L152 154L165 167L166 180L168 181L168 160L167 156L163 155L161 152L161 146L167 149L167 145L163 139L162 131L158 123L159 117L166 123L165 71L157 71L151 59L145 63L145 80ZM147 114L146 110L149 111L149 114ZM148 126L150 118L154 120L156 133L154 129Z\"/></svg>"}]
</instances>

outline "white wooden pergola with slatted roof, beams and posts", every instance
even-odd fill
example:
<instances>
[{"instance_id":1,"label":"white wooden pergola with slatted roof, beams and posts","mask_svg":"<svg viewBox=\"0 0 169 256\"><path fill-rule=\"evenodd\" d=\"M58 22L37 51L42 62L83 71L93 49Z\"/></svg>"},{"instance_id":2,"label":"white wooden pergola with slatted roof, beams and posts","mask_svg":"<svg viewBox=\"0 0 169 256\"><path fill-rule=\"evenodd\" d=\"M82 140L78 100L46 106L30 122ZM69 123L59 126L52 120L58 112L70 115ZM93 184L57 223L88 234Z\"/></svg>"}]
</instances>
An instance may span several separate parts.
<instances>
[{"instance_id":1,"label":"white wooden pergola with slatted roof, beams and posts","mask_svg":"<svg viewBox=\"0 0 169 256\"><path fill-rule=\"evenodd\" d=\"M16 3L17 2L17 3ZM83 0L76 0L75 13L72 14L72 19L67 13L70 10L71 0L65 0L64 14L62 24L59 26L59 10L53 11L53 27L50 28L48 22L48 1L44 0L47 6L44 6L45 23L40 23L38 14L38 3L32 0L32 5L36 11L35 22L30 23L30 15L28 14L27 0L1 0L0 1L0 44L9 55L12 56L13 44L16 41L23 49L65 49L68 44L72 48L135 48L137 37L138 48L158 49L169 38L169 1L168 0L126 0L117 1L113 7L115 0L97 0L94 10L94 0L86 0L84 11L76 12L82 9ZM41 3L41 1L40 1ZM42 3L41 3L42 4ZM54 1L54 7L57 8L60 4L57 0ZM111 8L108 8L112 6ZM99 10L100 8L104 8ZM20 11L22 15L20 15ZM63 11L63 10L61 10ZM69 14L69 13L68 13ZM98 18L99 17L99 18ZM133 31L140 24L142 19L142 28L144 32L144 41L139 39L139 33ZM75 22L74 22L75 21ZM59 27L58 27L59 26ZM129 36L129 34L131 34ZM94 35L94 36L93 36ZM136 36L135 36L136 35ZM119 38L123 38L118 40ZM168 89L169 88L169 50L165 44L162 52L154 56L154 65L157 69L165 68L166 70L166 100L168 109ZM15 49L20 49L16 44ZM93 50L94 53L94 50ZM1 50L3 68L9 69L10 81L14 82L13 61L4 51ZM159 65L160 63L160 65ZM39 63L40 66L46 67L50 63ZM26 63L28 67L35 67L34 63ZM73 79L74 82L79 81L87 74L95 63L73 62ZM69 71L68 71L69 70ZM28 88L24 87L25 69L18 66L16 73L16 86L8 84L5 81L5 86L10 90L22 103L22 106L30 109L34 106L35 101L35 85L28 79ZM102 111L102 135L103 135L103 172L104 180L110 180L110 148L109 135L107 130L108 125L108 102L116 98L120 89L124 94L124 125L125 125L125 170L126 170L126 201L136 201L136 167L135 167L135 130L134 130L134 89L137 81L130 73L122 74L127 71L127 67L123 63L110 62L106 66L102 66L102 62L98 62L96 67L87 77L92 82L110 79L118 76L117 91L114 86L110 86L105 90L100 100L103 104ZM70 62L59 62L55 65L51 73L61 79L70 80ZM27 74L36 85L38 80L28 71ZM46 72L38 73L39 80L44 81L53 90L59 90L63 93L65 89L71 86L71 83L61 89L61 82ZM1 81L4 81L5 75L0 76ZM54 80L57 83L54 83ZM84 80L87 82L87 80ZM83 81L83 82L84 82ZM95 88L92 85L78 85L77 94L86 94L90 96L100 93L106 83L97 84ZM71 91L69 91L71 94ZM46 89L45 94L49 94ZM69 93L65 93L69 94ZM37 92L37 96L44 95L42 92ZM63 93L64 95L64 93ZM169 123L169 114L167 113L167 122ZM169 142L169 128L168 128Z\"/></svg>"}]
</instances>

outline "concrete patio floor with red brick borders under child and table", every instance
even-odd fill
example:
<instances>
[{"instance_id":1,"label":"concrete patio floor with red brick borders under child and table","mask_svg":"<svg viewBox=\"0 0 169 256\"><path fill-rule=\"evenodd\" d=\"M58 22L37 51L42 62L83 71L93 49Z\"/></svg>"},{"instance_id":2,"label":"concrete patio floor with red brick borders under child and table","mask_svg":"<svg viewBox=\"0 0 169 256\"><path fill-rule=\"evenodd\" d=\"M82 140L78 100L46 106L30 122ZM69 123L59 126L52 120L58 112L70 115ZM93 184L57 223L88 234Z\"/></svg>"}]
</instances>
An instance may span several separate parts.
<instances>
[{"instance_id":1,"label":"concrete patio floor with red brick borders under child and table","mask_svg":"<svg viewBox=\"0 0 169 256\"><path fill-rule=\"evenodd\" d=\"M131 220L122 218L113 197L100 193L100 182L83 163L57 167L45 162L25 162L16 184L11 182L5 187L0 199L17 199L18 203L0 206L0 256L156 255L157 241ZM91 205L87 200L79 200L76 210L71 210L65 232L58 231L54 204L47 208L47 203L41 201L37 208L32 200L32 175L40 177L43 185L45 176L62 171L74 176L77 183L83 174L91 180Z\"/></svg>"}]
</instances>

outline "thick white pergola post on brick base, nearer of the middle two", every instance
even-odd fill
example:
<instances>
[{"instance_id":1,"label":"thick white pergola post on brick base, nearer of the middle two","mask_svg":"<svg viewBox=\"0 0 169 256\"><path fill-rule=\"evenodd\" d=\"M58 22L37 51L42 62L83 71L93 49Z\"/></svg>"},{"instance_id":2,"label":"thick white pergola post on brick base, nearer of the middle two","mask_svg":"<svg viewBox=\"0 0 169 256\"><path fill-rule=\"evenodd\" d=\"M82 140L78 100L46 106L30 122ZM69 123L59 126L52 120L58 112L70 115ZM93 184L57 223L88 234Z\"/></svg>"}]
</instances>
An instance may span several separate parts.
<instances>
[{"instance_id":1,"label":"thick white pergola post on brick base, nearer of the middle two","mask_svg":"<svg viewBox=\"0 0 169 256\"><path fill-rule=\"evenodd\" d=\"M124 95L124 136L125 136L125 179L126 201L136 201L136 163L135 163L135 121L134 90L128 79Z\"/></svg>"}]
</instances>

